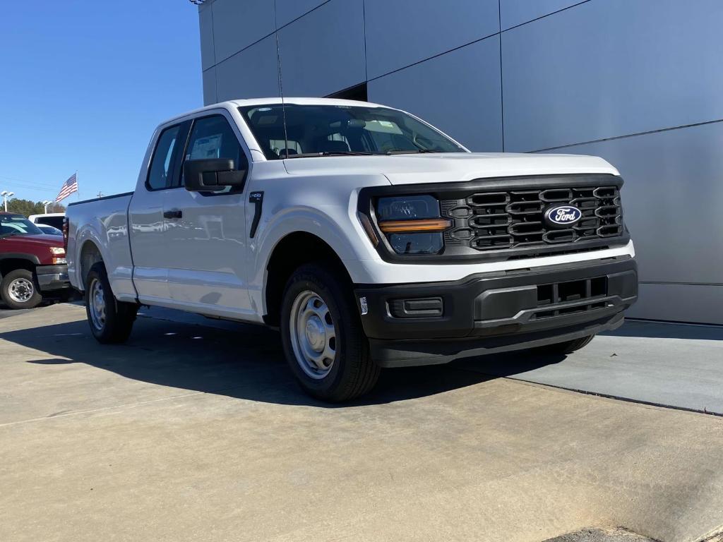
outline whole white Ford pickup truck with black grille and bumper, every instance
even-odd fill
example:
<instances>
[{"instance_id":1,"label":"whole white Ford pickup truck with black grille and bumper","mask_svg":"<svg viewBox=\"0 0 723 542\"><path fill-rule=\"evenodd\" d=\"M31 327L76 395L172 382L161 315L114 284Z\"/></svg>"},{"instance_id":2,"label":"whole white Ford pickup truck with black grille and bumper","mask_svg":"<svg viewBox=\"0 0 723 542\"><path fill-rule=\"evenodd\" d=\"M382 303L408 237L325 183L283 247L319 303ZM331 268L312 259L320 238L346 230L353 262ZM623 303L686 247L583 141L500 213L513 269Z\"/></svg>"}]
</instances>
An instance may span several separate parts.
<instances>
[{"instance_id":1,"label":"whole white Ford pickup truck with black grille and bumper","mask_svg":"<svg viewBox=\"0 0 723 542\"><path fill-rule=\"evenodd\" d=\"M237 100L158 126L134 192L72 203L67 259L101 343L140 305L278 327L341 401L380 369L570 353L637 298L601 158L482 154L403 111Z\"/></svg>"}]
</instances>

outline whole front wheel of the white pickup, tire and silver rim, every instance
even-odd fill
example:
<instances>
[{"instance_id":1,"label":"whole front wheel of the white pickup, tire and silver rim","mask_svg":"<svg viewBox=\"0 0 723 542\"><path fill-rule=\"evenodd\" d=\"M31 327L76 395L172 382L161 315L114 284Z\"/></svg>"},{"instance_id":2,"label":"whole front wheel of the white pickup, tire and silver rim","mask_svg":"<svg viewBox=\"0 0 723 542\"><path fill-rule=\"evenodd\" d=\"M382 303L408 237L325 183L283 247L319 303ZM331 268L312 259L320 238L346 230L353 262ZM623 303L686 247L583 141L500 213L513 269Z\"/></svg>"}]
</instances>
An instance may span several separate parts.
<instances>
[{"instance_id":1,"label":"whole front wheel of the white pickup, tire and silver rim","mask_svg":"<svg viewBox=\"0 0 723 542\"><path fill-rule=\"evenodd\" d=\"M369 344L349 285L306 264L286 285L281 337L291 371L306 392L326 401L345 401L374 387L380 368Z\"/></svg>"}]
</instances>

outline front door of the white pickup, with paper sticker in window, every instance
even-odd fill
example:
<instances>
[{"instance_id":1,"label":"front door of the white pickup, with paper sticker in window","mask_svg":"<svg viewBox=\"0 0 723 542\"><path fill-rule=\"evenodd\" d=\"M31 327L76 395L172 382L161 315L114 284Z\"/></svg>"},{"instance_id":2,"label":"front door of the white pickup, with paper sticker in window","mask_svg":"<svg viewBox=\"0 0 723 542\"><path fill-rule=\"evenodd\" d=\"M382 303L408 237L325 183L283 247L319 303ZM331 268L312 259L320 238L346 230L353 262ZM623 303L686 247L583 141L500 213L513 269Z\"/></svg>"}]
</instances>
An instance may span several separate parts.
<instances>
[{"instance_id":1,"label":"front door of the white pickup, with paper sticker in window","mask_svg":"<svg viewBox=\"0 0 723 542\"><path fill-rule=\"evenodd\" d=\"M184 160L231 158L245 168L249 155L225 111L193 120ZM181 309L247 319L252 314L247 288L245 186L223 192L188 192L182 167L163 203L168 288Z\"/></svg>"}]
</instances>

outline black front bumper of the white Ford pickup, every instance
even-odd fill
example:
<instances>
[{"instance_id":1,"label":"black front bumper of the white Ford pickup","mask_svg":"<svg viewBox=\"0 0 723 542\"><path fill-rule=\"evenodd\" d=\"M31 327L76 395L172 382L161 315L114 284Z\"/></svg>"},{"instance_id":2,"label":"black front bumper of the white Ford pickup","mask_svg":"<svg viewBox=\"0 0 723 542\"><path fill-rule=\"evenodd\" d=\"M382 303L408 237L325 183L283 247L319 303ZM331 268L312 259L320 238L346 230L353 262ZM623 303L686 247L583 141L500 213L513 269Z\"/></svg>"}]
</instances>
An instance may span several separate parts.
<instances>
[{"instance_id":1,"label":"black front bumper of the white Ford pickup","mask_svg":"<svg viewBox=\"0 0 723 542\"><path fill-rule=\"evenodd\" d=\"M613 329L637 299L638 275L621 257L355 293L378 364L440 364Z\"/></svg>"}]
</instances>

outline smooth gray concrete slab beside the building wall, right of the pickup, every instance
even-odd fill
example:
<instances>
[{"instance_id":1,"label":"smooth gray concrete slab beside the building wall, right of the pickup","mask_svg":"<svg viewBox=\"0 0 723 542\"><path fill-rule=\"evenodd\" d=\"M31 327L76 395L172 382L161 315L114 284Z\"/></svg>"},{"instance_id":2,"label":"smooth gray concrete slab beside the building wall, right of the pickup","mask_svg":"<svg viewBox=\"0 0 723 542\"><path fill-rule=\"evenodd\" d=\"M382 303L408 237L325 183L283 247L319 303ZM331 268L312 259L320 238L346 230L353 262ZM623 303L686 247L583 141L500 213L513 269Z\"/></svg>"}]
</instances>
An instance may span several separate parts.
<instances>
[{"instance_id":1,"label":"smooth gray concrete slab beside the building wall, right of the pickup","mask_svg":"<svg viewBox=\"0 0 723 542\"><path fill-rule=\"evenodd\" d=\"M572 356L464 361L484 374L723 416L723 327L628 321Z\"/></svg>"}]
</instances>

